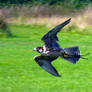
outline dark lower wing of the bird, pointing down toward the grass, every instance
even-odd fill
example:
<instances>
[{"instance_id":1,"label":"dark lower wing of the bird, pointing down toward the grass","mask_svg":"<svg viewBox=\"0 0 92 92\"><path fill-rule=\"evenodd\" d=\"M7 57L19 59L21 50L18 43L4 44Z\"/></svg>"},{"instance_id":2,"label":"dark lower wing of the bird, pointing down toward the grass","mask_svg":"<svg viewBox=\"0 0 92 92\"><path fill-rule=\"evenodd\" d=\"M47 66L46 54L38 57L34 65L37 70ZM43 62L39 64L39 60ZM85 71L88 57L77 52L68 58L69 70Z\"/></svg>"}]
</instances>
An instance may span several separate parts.
<instances>
[{"instance_id":1,"label":"dark lower wing of the bird, pointing down toward the grass","mask_svg":"<svg viewBox=\"0 0 92 92\"><path fill-rule=\"evenodd\" d=\"M60 77L57 70L52 66L51 62L58 57L50 57L50 56L35 56L35 61L37 64L42 67L44 70L46 70L48 73Z\"/></svg>"}]
</instances>

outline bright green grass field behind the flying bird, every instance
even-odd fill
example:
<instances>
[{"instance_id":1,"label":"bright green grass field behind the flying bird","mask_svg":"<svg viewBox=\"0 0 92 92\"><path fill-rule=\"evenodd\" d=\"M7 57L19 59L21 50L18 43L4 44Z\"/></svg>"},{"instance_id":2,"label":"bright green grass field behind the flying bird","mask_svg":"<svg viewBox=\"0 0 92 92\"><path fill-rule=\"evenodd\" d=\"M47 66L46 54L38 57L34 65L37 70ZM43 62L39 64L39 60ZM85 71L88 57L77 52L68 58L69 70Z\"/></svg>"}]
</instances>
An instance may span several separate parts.
<instances>
[{"instance_id":1,"label":"bright green grass field behind the flying bird","mask_svg":"<svg viewBox=\"0 0 92 92\"><path fill-rule=\"evenodd\" d=\"M91 92L92 54L88 60L72 64L58 58L53 65L62 77L54 77L41 69L33 57L33 48L49 28L45 25L11 25L13 38L0 38L0 92ZM74 29L75 30L75 29ZM78 45L81 53L92 52L92 34L62 30L58 34L62 48Z\"/></svg>"}]
</instances>

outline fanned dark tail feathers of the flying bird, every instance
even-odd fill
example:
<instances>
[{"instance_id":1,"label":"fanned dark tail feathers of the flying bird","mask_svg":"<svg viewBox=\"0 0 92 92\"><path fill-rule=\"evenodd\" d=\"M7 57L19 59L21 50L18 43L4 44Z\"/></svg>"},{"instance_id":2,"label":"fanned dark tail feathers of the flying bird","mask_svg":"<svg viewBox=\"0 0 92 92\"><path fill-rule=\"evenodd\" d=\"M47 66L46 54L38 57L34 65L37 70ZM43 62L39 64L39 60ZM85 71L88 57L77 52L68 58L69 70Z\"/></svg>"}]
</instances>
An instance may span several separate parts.
<instances>
[{"instance_id":1,"label":"fanned dark tail feathers of the flying bird","mask_svg":"<svg viewBox=\"0 0 92 92\"><path fill-rule=\"evenodd\" d=\"M81 58L79 47L75 46L64 48L64 54L62 55L62 57L67 61L76 64L76 62Z\"/></svg>"}]
</instances>

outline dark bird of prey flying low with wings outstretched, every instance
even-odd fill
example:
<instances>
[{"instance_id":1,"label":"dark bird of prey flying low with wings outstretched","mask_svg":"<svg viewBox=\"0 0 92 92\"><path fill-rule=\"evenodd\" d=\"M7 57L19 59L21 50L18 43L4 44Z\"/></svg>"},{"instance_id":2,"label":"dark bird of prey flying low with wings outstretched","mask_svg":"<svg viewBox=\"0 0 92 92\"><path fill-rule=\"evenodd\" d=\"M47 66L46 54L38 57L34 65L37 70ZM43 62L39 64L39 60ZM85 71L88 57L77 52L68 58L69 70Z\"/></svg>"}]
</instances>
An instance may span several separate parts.
<instances>
[{"instance_id":1,"label":"dark bird of prey flying low with wings outstretched","mask_svg":"<svg viewBox=\"0 0 92 92\"><path fill-rule=\"evenodd\" d=\"M59 44L57 43L57 41L59 41L57 33L60 32L65 25L70 23L70 21L71 18L46 33L41 38L45 45L33 49L33 51L40 53L39 56L34 57L34 60L37 62L37 64L48 73L57 77L60 77L60 75L55 67L51 64L52 61L56 60L58 57L61 57L73 64L76 64L76 62L81 58L78 46L60 48Z\"/></svg>"}]
</instances>

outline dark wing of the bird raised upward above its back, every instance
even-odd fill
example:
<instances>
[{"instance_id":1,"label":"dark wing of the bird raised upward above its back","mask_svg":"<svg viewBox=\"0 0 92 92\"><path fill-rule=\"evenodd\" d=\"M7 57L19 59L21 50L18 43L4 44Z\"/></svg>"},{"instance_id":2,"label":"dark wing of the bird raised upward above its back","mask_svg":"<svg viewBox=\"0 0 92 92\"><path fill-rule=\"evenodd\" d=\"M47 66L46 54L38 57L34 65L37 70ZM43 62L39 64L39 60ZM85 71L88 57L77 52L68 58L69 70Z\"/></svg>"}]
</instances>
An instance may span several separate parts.
<instances>
[{"instance_id":1,"label":"dark wing of the bird raised upward above its back","mask_svg":"<svg viewBox=\"0 0 92 92\"><path fill-rule=\"evenodd\" d=\"M59 45L57 44L56 41L58 41L58 37L57 37L57 33L70 22L71 18L68 19L67 21L59 24L58 26L56 26L55 28L53 28L52 30L50 30L48 33L46 33L43 37L42 37L42 41L45 42L47 47L59 47ZM54 45L53 45L54 44Z\"/></svg>"}]
</instances>

